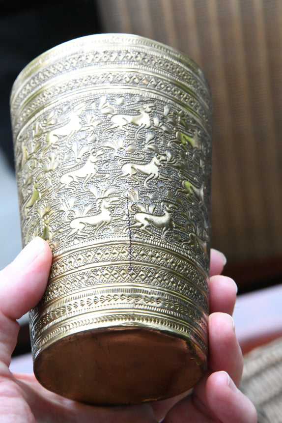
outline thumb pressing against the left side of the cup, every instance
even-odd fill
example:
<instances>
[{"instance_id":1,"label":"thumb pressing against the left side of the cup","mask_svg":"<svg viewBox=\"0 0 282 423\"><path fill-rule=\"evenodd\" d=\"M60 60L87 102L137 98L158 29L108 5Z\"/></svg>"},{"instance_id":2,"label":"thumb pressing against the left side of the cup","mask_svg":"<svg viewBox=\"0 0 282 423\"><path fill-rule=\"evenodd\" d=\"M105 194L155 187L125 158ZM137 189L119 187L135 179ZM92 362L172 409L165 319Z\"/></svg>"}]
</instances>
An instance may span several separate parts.
<instances>
[{"instance_id":1,"label":"thumb pressing against the left side of the cup","mask_svg":"<svg viewBox=\"0 0 282 423\"><path fill-rule=\"evenodd\" d=\"M0 361L7 366L17 342L16 319L40 301L51 261L49 245L36 237L0 272Z\"/></svg>"}]
</instances>

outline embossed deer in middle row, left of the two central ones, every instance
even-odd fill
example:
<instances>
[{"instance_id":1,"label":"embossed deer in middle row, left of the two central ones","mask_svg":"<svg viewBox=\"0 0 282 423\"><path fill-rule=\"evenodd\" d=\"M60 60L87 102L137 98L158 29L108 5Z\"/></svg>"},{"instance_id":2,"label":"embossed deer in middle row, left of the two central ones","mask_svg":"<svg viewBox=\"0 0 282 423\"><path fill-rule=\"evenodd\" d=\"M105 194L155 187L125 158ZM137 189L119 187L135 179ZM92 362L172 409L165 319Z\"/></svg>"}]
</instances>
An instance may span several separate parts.
<instances>
[{"instance_id":1,"label":"embossed deer in middle row, left of the two central ones","mask_svg":"<svg viewBox=\"0 0 282 423\"><path fill-rule=\"evenodd\" d=\"M74 187L71 186L73 182L78 183L81 178L84 178L84 185L88 181L88 179L94 176L104 176L108 177L109 175L106 174L99 174L97 173L97 166L96 162L99 160L99 156L104 153L104 150L100 149L97 152L92 150L88 159L86 160L85 164L78 169L71 170L69 172L64 173L60 177L61 188L72 188L75 190Z\"/></svg>"}]
</instances>

